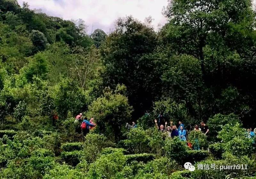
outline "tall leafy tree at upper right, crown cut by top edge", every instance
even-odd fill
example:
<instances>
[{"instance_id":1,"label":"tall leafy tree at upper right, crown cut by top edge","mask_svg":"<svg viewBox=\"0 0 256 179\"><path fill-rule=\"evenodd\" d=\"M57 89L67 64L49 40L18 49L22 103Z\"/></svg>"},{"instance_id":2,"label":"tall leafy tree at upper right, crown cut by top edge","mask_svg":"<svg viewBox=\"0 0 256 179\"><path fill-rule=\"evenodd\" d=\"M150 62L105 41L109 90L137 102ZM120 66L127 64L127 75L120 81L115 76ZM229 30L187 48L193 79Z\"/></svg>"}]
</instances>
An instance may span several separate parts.
<instances>
[{"instance_id":1,"label":"tall leafy tree at upper right, crown cut by top edge","mask_svg":"<svg viewBox=\"0 0 256 179\"><path fill-rule=\"evenodd\" d=\"M220 36L231 50L244 53L253 45L247 32L252 32L254 14L251 1L173 0L164 14L170 23L163 28L164 41L178 53L200 59L203 75L204 47L211 36ZM241 40L246 39L246 40Z\"/></svg>"}]
</instances>

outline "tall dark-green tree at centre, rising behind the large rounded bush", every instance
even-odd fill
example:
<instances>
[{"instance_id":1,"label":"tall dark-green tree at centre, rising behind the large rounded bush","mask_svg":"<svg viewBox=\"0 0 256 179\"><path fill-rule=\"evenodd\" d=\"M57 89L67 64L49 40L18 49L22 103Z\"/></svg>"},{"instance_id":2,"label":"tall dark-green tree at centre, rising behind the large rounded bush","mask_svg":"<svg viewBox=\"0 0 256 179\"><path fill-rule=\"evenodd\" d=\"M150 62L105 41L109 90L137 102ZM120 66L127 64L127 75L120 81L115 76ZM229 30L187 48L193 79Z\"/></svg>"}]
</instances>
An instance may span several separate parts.
<instances>
[{"instance_id":1,"label":"tall dark-green tree at centre, rising behind the large rounded bush","mask_svg":"<svg viewBox=\"0 0 256 179\"><path fill-rule=\"evenodd\" d=\"M160 79L155 76L155 58L150 55L156 45L151 27L127 17L117 20L116 31L101 46L105 85L114 88L124 84L137 117L152 105L157 88L154 82Z\"/></svg>"}]
</instances>

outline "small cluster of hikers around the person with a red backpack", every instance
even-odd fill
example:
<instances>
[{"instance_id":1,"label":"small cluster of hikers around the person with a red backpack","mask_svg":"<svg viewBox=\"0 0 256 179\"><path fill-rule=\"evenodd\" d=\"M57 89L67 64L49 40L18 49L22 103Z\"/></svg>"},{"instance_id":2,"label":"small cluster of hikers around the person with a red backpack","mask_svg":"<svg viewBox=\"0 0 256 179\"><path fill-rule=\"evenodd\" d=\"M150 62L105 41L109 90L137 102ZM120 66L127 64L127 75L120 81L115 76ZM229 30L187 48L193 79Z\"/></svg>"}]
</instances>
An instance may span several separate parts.
<instances>
[{"instance_id":1,"label":"small cluster of hikers around the person with a red backpack","mask_svg":"<svg viewBox=\"0 0 256 179\"><path fill-rule=\"evenodd\" d=\"M88 118L83 117L83 113L80 113L76 116L76 119L74 123L81 124L81 134L83 136L86 136L87 133L89 133L90 130L94 129L96 127L96 124L93 122L94 118L92 117L90 121L88 121ZM79 126L79 125L78 125ZM77 132L79 131L79 127L77 127Z\"/></svg>"}]
</instances>

